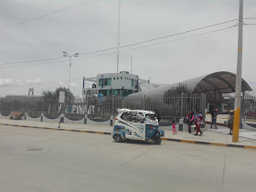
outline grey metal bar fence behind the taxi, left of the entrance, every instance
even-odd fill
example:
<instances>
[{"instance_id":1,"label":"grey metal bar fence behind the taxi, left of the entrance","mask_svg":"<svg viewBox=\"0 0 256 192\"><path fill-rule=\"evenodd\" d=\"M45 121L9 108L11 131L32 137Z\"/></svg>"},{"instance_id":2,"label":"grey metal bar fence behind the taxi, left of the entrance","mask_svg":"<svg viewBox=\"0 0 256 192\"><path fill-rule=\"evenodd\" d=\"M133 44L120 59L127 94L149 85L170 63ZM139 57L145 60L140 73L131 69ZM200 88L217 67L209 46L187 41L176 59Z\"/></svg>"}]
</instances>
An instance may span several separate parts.
<instances>
[{"instance_id":1,"label":"grey metal bar fence behind the taxi, left of the entrance","mask_svg":"<svg viewBox=\"0 0 256 192\"><path fill-rule=\"evenodd\" d=\"M71 119L82 119L85 114L88 118L101 118L109 120L112 115L117 114L117 109L127 108L132 110L158 110L163 122L178 121L187 116L187 112L201 111L205 116L206 97L205 95L172 95L172 96L142 96L142 97L117 97L108 96L99 98L94 95L85 97L82 100L75 100L72 103L65 103L65 116ZM1 100L0 112L9 115L11 112L27 112L31 117L38 117L41 113L48 118L58 118L60 112L59 101L53 100Z\"/></svg>"}]
</instances>

